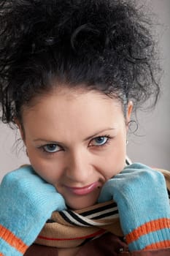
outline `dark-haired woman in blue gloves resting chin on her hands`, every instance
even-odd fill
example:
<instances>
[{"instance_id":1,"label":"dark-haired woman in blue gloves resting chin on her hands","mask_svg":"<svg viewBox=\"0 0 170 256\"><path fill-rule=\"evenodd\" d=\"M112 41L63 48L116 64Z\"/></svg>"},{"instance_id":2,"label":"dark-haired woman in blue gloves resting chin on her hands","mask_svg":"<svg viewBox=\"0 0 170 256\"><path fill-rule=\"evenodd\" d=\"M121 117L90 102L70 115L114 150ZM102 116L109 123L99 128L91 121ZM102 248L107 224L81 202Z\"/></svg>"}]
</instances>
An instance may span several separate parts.
<instances>
[{"instance_id":1,"label":"dark-haired woman in blue gloves resting chin on her hands","mask_svg":"<svg viewBox=\"0 0 170 256\"><path fill-rule=\"evenodd\" d=\"M1 1L2 121L31 165L1 183L0 255L169 255L165 178L126 159L160 91L147 21L130 1Z\"/></svg>"}]
</instances>

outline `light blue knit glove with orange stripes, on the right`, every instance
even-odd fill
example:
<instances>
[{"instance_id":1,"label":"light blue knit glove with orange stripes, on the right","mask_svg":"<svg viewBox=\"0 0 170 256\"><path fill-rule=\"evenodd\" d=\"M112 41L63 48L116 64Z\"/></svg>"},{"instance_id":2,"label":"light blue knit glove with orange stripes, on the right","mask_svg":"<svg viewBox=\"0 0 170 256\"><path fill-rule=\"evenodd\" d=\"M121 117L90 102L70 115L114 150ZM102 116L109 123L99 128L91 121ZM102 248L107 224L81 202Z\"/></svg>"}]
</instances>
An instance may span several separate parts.
<instances>
[{"instance_id":1,"label":"light blue knit glove with orange stripes, on the right","mask_svg":"<svg viewBox=\"0 0 170 256\"><path fill-rule=\"evenodd\" d=\"M170 206L162 173L134 163L104 184L98 201L115 200L130 251L170 246Z\"/></svg>"}]
</instances>

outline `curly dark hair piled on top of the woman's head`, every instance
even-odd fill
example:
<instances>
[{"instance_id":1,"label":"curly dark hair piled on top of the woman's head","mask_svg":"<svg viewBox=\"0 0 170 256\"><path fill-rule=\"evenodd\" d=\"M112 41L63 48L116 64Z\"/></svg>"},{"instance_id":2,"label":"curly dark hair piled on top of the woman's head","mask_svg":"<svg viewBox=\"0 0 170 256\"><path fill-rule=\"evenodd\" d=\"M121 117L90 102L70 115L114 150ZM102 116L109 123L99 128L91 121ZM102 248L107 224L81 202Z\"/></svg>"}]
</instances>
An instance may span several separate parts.
<instances>
[{"instance_id":1,"label":"curly dark hair piled on top of the woman's head","mask_svg":"<svg viewBox=\"0 0 170 256\"><path fill-rule=\"evenodd\" d=\"M22 107L53 80L117 97L124 109L129 99L155 105L157 56L152 24L134 1L1 0L1 119L21 121Z\"/></svg>"}]
</instances>

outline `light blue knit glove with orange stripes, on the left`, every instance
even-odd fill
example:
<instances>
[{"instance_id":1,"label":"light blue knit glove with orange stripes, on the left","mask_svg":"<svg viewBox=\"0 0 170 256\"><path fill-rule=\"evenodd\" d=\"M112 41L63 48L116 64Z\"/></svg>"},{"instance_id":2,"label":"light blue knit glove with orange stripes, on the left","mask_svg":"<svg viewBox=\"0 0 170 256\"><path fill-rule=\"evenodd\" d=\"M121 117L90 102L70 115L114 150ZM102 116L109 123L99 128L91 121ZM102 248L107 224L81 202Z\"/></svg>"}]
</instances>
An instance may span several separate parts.
<instances>
[{"instance_id":1,"label":"light blue knit glove with orange stripes, on the left","mask_svg":"<svg viewBox=\"0 0 170 256\"><path fill-rule=\"evenodd\" d=\"M63 197L30 165L8 173L0 186L0 255L23 255L52 212L64 209Z\"/></svg>"}]
</instances>

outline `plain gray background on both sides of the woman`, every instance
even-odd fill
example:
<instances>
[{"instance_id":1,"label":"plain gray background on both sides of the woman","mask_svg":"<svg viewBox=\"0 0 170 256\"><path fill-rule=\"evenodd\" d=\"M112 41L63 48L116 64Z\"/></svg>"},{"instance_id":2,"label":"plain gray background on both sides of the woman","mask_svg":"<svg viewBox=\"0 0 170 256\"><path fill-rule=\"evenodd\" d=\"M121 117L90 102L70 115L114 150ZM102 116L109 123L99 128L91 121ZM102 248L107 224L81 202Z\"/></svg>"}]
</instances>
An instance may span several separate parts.
<instances>
[{"instance_id":1,"label":"plain gray background on both sides of the woman","mask_svg":"<svg viewBox=\"0 0 170 256\"><path fill-rule=\"evenodd\" d=\"M170 0L147 0L158 14L160 45L164 69L163 92L155 110L138 115L139 129L136 135L128 135L128 156L134 162L170 170ZM15 142L20 136L16 130L0 124L0 180L9 170L28 163L23 143Z\"/></svg>"}]
</instances>

